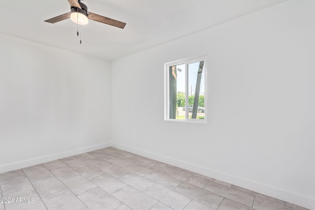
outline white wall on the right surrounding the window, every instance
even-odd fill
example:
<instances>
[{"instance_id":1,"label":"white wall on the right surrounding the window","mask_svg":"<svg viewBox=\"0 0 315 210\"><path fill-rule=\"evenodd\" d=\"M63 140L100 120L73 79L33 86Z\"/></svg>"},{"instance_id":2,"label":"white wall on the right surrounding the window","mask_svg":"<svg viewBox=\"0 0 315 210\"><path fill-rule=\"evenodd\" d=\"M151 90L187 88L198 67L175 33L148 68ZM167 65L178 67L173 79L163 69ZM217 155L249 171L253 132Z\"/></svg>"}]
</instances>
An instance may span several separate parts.
<instances>
[{"instance_id":1,"label":"white wall on the right surrounding the window","mask_svg":"<svg viewBox=\"0 0 315 210\"><path fill-rule=\"evenodd\" d=\"M315 1L112 64L114 146L315 209ZM208 56L208 123L163 120L165 62Z\"/></svg>"}]
</instances>

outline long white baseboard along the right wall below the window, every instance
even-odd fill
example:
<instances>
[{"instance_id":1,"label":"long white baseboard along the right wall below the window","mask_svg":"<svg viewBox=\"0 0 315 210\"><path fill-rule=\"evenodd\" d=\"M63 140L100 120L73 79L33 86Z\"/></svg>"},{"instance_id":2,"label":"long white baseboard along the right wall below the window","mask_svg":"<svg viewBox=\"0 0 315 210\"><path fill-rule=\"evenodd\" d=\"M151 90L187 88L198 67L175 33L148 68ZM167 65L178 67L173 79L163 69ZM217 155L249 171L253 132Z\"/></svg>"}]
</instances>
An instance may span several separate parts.
<instances>
[{"instance_id":1,"label":"long white baseboard along the right wall below the window","mask_svg":"<svg viewBox=\"0 0 315 210\"><path fill-rule=\"evenodd\" d=\"M284 189L280 189L277 187L273 187L270 185L266 185L263 183L255 182L252 180L247 180L244 178L236 177L230 174L225 174L219 171L215 171L212 169L208 169L202 166L194 165L188 162L184 162L181 160L173 159L170 157L166 157L163 155L159 155L156 153L139 150L136 148L128 147L125 145L112 143L112 147L126 150L144 157L148 157L154 160L158 160L160 162L164 162L173 166L177 166L186 170L189 170L191 172L195 172L207 177L211 177L217 180L225 181L264 195L268 195L273 198L277 198L301 207L305 207L311 210L315 210L315 199L311 197L307 197L305 195L297 194L294 192L286 191Z\"/></svg>"}]
</instances>

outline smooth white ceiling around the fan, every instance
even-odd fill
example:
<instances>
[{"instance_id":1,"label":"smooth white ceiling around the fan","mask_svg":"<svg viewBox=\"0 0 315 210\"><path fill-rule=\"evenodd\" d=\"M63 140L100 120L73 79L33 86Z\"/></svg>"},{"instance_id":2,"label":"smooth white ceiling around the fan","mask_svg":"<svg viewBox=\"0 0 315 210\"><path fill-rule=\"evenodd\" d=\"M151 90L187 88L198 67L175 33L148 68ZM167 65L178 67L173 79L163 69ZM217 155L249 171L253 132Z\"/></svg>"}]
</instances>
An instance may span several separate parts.
<instances>
[{"instance_id":1,"label":"smooth white ceiling around the fan","mask_svg":"<svg viewBox=\"0 0 315 210\"><path fill-rule=\"evenodd\" d=\"M211 28L286 0L84 0L90 12L126 23L125 29L94 21L44 20L67 13L67 0L1 0L0 33L115 60Z\"/></svg>"}]
</instances>

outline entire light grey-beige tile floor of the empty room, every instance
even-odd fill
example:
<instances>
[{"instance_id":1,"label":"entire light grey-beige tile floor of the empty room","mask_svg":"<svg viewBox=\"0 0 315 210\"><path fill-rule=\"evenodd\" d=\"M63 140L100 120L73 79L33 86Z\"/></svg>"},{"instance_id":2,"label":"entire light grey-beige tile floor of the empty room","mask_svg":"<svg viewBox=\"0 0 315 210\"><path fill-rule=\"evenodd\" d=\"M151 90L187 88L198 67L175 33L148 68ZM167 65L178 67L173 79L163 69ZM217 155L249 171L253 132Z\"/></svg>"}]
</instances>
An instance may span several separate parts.
<instances>
[{"instance_id":1,"label":"entire light grey-beige tile floor of the empty room","mask_svg":"<svg viewBox=\"0 0 315 210\"><path fill-rule=\"evenodd\" d=\"M0 174L0 198L13 199L0 210L306 210L116 148Z\"/></svg>"}]
</instances>

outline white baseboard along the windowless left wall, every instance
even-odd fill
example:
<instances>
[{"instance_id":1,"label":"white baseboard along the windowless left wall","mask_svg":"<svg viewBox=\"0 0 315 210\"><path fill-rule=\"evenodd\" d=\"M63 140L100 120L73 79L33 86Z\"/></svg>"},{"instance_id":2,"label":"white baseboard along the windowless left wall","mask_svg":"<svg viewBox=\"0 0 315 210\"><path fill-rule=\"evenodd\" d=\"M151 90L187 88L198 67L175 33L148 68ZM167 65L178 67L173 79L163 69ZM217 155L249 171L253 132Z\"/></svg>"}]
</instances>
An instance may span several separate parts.
<instances>
[{"instance_id":1,"label":"white baseboard along the windowless left wall","mask_svg":"<svg viewBox=\"0 0 315 210\"><path fill-rule=\"evenodd\" d=\"M17 169L26 168L29 166L34 166L37 164L53 161L53 160L62 159L65 157L70 157L77 154L82 154L89 151L111 147L111 146L112 146L112 143L104 143L104 144L99 144L99 145L93 145L90 147L79 148L75 150L68 150L68 151L64 151L64 152L60 152L56 154L50 154L47 156L37 157L37 158L29 159L29 160L23 160L23 161L11 163L8 165L3 165L3 166L0 166L0 174L8 172L8 171L14 171Z\"/></svg>"}]
</instances>

